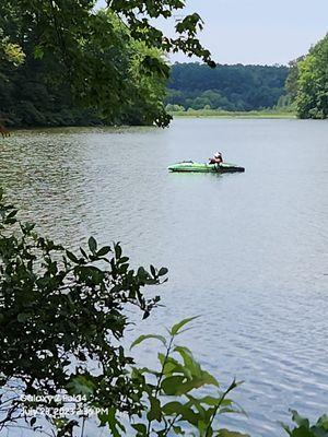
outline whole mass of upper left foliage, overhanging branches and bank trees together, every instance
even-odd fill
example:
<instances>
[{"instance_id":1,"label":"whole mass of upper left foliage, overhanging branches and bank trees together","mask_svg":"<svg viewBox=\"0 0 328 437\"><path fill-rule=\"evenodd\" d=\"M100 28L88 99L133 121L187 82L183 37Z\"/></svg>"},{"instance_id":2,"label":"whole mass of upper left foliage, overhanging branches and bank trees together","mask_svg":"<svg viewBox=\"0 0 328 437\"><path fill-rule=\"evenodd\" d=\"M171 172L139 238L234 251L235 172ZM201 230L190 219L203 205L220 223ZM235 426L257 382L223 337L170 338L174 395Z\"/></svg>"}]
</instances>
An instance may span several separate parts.
<instances>
[{"instance_id":1,"label":"whole mass of upper left foliage, overhanging branches and bank trees together","mask_svg":"<svg viewBox=\"0 0 328 437\"><path fill-rule=\"evenodd\" d=\"M113 0L96 11L94 0L1 1L8 56L26 61L0 63L0 111L16 126L167 126L168 67L161 55L183 50L214 66L196 37L198 14L178 22L172 38L151 24L184 7L181 0Z\"/></svg>"}]
</instances>

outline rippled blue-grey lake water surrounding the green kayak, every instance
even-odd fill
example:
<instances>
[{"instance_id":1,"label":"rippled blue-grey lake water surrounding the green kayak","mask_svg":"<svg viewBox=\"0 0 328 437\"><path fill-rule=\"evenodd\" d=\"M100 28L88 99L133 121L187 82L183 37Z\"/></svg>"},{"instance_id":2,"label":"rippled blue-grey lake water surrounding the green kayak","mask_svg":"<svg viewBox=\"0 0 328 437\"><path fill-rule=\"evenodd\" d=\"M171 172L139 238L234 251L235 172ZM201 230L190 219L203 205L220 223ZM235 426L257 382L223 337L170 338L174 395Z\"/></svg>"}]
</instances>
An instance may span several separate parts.
<instances>
[{"instance_id":1,"label":"rippled blue-grey lake water surrounding the green kayak","mask_svg":"<svg viewBox=\"0 0 328 437\"><path fill-rule=\"evenodd\" d=\"M166 170L216 150L246 173ZM48 236L120 240L132 263L168 267L164 307L128 339L201 315L181 342L223 387L245 380L234 399L248 417L224 425L282 436L289 408L327 412L328 122L19 131L0 153L1 185ZM137 353L152 362L155 345Z\"/></svg>"}]
</instances>

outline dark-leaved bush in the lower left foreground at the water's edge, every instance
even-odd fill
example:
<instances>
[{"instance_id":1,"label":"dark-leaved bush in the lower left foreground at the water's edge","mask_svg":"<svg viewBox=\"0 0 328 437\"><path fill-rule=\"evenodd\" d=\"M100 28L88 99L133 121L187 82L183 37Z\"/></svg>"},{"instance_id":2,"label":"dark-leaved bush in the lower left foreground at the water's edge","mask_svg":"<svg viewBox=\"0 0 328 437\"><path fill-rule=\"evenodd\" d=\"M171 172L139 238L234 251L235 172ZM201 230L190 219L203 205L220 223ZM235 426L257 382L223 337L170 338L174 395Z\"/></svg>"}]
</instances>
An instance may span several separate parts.
<instances>
[{"instance_id":1,"label":"dark-leaved bush in the lower left foreground at the water's edge","mask_svg":"<svg viewBox=\"0 0 328 437\"><path fill-rule=\"evenodd\" d=\"M139 413L141 386L118 343L128 324L124 309L132 305L148 317L160 298L145 298L142 288L162 283L167 270L132 270L119 244L98 247L93 237L73 253L16 214L1 192L0 430L21 415L17 393L81 394L85 404Z\"/></svg>"}]
</instances>

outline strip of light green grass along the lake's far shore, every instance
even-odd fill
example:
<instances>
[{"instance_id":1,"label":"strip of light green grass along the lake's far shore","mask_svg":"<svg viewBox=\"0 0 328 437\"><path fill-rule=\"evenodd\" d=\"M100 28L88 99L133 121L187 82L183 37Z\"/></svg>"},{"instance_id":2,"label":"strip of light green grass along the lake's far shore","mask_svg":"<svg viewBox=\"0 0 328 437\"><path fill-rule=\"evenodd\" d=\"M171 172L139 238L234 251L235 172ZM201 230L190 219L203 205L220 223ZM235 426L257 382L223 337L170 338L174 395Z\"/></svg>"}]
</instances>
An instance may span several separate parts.
<instances>
[{"instance_id":1,"label":"strip of light green grass along the lake's far shore","mask_svg":"<svg viewBox=\"0 0 328 437\"><path fill-rule=\"evenodd\" d=\"M220 117L220 118L296 118L294 113L281 110L250 110L231 113L216 109L189 109L169 113L173 117Z\"/></svg>"}]
</instances>

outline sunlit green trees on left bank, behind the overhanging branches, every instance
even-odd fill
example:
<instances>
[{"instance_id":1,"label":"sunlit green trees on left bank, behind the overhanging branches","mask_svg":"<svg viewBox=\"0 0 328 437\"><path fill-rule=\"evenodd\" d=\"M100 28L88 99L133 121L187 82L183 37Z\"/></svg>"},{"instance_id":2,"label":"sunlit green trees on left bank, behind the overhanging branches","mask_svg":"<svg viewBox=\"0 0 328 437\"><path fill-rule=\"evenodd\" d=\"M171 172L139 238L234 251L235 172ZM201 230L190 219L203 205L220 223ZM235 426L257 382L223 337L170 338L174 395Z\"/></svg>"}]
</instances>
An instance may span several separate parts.
<instances>
[{"instance_id":1,"label":"sunlit green trees on left bank, behind the overhanging branches","mask_svg":"<svg viewBox=\"0 0 328 437\"><path fill-rule=\"evenodd\" d=\"M80 43L74 56L79 56L81 68L74 71L68 70L58 48L33 45L37 27L30 28L26 39L26 24L13 27L12 15L5 19L11 20L7 31L11 38L23 38L26 56L20 66L0 63L0 111L9 123L168 123L163 105L168 67L157 49L131 38L113 13L98 11L94 15L106 38L91 32Z\"/></svg>"}]
</instances>

